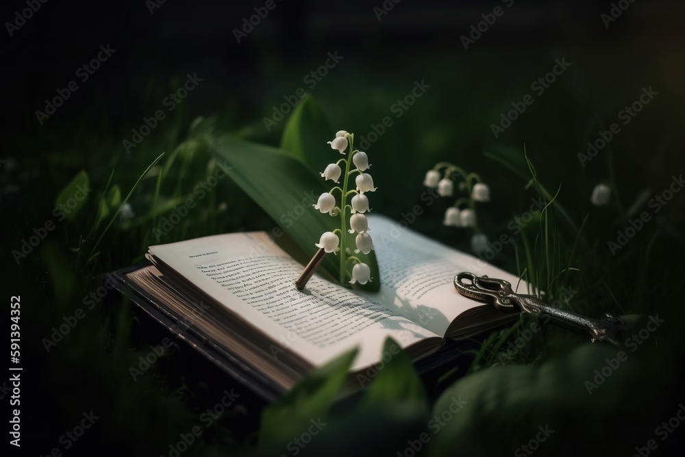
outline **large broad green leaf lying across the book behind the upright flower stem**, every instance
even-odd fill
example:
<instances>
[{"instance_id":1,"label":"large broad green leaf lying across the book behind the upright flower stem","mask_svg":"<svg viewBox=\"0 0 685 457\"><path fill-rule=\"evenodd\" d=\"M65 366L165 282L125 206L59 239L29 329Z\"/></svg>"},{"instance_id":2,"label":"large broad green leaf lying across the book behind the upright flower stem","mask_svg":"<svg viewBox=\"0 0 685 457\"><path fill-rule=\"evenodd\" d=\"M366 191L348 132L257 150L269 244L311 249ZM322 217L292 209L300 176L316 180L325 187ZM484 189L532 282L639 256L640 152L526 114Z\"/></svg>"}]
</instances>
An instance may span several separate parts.
<instances>
[{"instance_id":1,"label":"large broad green leaf lying across the book behind the upright flower stem","mask_svg":"<svg viewBox=\"0 0 685 457\"><path fill-rule=\"evenodd\" d=\"M319 243L323 232L340 228L340 219L321 214L312 207L319 195L330 189L291 153L231 136L218 138L213 148L219 162L229 169L229 177L302 249L304 256L299 260L307 262L316 254L319 248L314 244ZM277 232L268 232L277 237ZM354 235L346 236L347 246L354 246ZM371 251L363 258L374 280L358 287L376 292L380 288L380 273L375 254ZM319 271L339 278L340 258L327 254Z\"/></svg>"}]
</instances>

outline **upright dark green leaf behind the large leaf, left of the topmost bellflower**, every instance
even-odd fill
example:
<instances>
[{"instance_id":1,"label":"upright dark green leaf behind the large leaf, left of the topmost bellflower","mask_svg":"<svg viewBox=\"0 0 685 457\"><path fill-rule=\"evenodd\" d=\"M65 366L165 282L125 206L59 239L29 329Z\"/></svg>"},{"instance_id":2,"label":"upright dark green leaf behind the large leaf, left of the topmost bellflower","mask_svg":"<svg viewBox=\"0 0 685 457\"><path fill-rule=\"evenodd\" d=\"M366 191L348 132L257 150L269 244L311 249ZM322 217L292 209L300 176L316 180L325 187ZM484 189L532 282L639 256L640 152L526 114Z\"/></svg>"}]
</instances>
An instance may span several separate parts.
<instances>
[{"instance_id":1,"label":"upright dark green leaf behind the large leaf, left of the topmost bellflower","mask_svg":"<svg viewBox=\"0 0 685 457\"><path fill-rule=\"evenodd\" d=\"M333 149L327 144L335 133L319 103L311 95L305 95L288 118L281 147L306 163L312 171L321 173L327 164L340 158L330 154Z\"/></svg>"}]
</instances>

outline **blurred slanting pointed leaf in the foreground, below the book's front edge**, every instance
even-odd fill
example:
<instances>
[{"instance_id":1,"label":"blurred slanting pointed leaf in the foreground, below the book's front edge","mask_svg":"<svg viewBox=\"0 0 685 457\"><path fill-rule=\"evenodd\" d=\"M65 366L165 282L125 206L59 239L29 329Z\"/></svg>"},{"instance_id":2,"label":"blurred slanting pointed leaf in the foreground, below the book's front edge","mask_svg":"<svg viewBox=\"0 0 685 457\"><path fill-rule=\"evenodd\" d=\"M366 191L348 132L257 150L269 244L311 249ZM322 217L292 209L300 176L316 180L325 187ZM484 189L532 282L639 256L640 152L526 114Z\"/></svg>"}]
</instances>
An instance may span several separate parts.
<instances>
[{"instance_id":1,"label":"blurred slanting pointed leaf in the foreground, below the book's front edge","mask_svg":"<svg viewBox=\"0 0 685 457\"><path fill-rule=\"evenodd\" d=\"M288 393L262 411L260 448L276 449L325 418L340 395L356 349L308 373Z\"/></svg>"}]
</instances>

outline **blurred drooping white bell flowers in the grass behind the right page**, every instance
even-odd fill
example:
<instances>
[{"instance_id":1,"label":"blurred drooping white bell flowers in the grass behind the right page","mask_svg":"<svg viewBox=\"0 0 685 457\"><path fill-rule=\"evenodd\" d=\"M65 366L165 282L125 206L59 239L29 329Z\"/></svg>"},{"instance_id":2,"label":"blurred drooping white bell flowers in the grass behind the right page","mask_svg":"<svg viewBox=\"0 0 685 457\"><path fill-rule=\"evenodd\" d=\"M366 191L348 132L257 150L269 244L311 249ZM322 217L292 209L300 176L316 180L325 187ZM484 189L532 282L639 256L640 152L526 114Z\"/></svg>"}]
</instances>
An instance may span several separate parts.
<instances>
[{"instance_id":1,"label":"blurred drooping white bell flowers in the grass behind the right page","mask_svg":"<svg viewBox=\"0 0 685 457\"><path fill-rule=\"evenodd\" d=\"M440 168L445 168L445 174L440 177ZM429 188L437 188L440 197L453 197L454 182L451 175L461 175L464 182L460 182L459 188L469 190L469 197L462 197L456 200L453 206L445 210L443 224L452 227L472 227L477 232L474 202L490 201L490 188L481 182L480 177L475 173L466 172L453 164L442 162L437 164L434 169L426 172L423 185ZM471 182L475 181L473 185ZM466 208L460 209L462 203L466 203ZM471 238L471 248L473 251L481 252L487 249L488 238L484 234L474 234Z\"/></svg>"}]
</instances>

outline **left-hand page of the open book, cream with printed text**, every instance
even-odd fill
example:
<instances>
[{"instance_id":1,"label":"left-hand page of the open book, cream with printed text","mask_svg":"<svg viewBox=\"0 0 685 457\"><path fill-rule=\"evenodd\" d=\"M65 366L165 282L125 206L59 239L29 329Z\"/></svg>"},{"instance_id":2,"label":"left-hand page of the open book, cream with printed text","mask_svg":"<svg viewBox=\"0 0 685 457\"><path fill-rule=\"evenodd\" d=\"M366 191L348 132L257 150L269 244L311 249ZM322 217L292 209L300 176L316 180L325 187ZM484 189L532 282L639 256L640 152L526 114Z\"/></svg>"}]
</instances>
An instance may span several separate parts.
<instances>
[{"instance_id":1,"label":"left-hand page of the open book, cream with printed text","mask_svg":"<svg viewBox=\"0 0 685 457\"><path fill-rule=\"evenodd\" d=\"M298 291L302 265L264 232L208 236L150 251L246 325L271 336L277 349L294 351L314 366L359 347L353 369L360 369L379 361L387 336L402 347L437 338L377 301L316 275Z\"/></svg>"}]
</instances>

